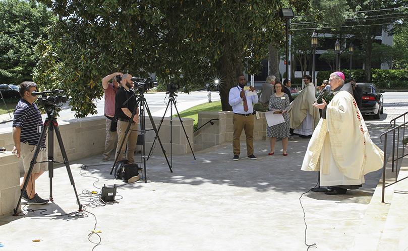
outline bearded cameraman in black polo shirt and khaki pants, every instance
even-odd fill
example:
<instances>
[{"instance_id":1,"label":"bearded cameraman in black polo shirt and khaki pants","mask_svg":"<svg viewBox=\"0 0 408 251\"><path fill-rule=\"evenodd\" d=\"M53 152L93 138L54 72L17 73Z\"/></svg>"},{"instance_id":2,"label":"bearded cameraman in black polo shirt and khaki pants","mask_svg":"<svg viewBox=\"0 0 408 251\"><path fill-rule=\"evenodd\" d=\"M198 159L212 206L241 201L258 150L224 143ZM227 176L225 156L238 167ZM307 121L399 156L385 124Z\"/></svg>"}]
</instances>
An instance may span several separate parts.
<instances>
[{"instance_id":1,"label":"bearded cameraman in black polo shirt and khaki pants","mask_svg":"<svg viewBox=\"0 0 408 251\"><path fill-rule=\"evenodd\" d=\"M137 106L136 97L131 98L125 105L124 103L133 95L133 92L130 90L133 85L132 75L123 74L121 79L121 88L115 97L115 117L118 118L118 146L116 147L116 154L118 154L119 148L121 147L122 142L127 142L128 146L124 143L119 153L118 161L125 158L125 149L126 150L126 159L129 162L134 162L134 153L137 143L138 135L138 124L139 123L139 108L136 110L136 114L133 117L132 124L129 128L129 132L126 135L125 131L128 128L129 120L132 117L132 113ZM117 156L117 155L116 155Z\"/></svg>"}]
</instances>

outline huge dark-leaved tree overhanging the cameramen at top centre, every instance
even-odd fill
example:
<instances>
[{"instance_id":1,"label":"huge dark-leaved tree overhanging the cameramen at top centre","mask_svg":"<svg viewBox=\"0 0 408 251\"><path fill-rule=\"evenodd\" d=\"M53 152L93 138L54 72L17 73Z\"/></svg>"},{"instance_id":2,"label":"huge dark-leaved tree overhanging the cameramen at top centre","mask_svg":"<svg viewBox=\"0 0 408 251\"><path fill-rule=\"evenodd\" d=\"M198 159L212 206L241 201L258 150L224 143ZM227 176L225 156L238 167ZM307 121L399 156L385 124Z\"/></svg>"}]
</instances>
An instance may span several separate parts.
<instances>
[{"instance_id":1,"label":"huge dark-leaved tree overhanging the cameramen at top centre","mask_svg":"<svg viewBox=\"0 0 408 251\"><path fill-rule=\"evenodd\" d=\"M222 110L231 110L236 76L245 68L256 73L268 44L284 31L280 0L40 2L59 20L39 46L36 77L69 90L77 117L94 112L90 101L102 94L100 79L114 71L155 72L185 92L219 78ZM307 7L305 0L290 3ZM53 68L45 67L49 57Z\"/></svg>"}]
</instances>

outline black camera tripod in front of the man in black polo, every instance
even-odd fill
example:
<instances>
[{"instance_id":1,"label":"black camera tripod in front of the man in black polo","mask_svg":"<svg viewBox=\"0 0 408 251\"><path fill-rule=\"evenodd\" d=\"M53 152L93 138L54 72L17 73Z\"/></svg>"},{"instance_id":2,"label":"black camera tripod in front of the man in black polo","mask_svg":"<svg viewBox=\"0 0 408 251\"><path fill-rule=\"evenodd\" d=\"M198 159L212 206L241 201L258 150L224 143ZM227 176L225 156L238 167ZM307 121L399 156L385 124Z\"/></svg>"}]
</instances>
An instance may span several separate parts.
<instances>
[{"instance_id":1,"label":"black camera tripod in front of the man in black polo","mask_svg":"<svg viewBox=\"0 0 408 251\"><path fill-rule=\"evenodd\" d=\"M115 167L115 164L116 164L116 162L118 161L119 153L121 152L122 147L123 147L123 145L124 145L124 143L125 143L126 136L127 136L128 133L129 133L130 126L131 126L131 124L133 123L133 117L135 117L136 110L137 110L138 105L139 105L139 106L140 106L140 109L139 109L139 112L140 112L140 117L139 117L139 118L140 118L140 121L139 121L139 124L140 124L140 132L141 132L142 141L143 141L143 142L142 142L142 145L143 145L143 151L142 151L142 154L143 154L143 155L142 155L142 157L143 157L143 170L144 170L145 183L147 183L147 179L146 179L146 177L147 177L147 176L146 176L146 150L145 150L145 148L146 148L146 142L145 142L145 135L146 135L145 110L147 111L147 114L149 115L150 123L152 124L153 130L154 130L154 132L156 133L156 137L157 137L158 140L159 140L159 143L160 143L160 146L161 146L161 150L163 151L163 155L164 155L164 157L166 158L166 161L167 161L167 164L168 164L168 168L170 169L170 173L172 173L173 171L171 170L171 165L170 165L170 163L168 162L168 159L167 159L167 156L166 156L166 151L164 150L163 144L161 143L161 140L160 140L160 137L159 137L159 134L158 134L158 130L157 130L157 128L156 128L156 124L154 123L152 114L150 113L149 106L147 105L146 98L144 97L143 92L144 92L143 89L139 90L139 98L137 99L136 106L135 106L135 108L133 109L132 117L129 119L129 124L128 124L128 127L126 128L126 131L125 131L125 137L124 137L124 139L123 139L123 141L122 141L122 143L121 143L121 146L120 146L120 148L119 148L119 151L117 151L116 154L115 154L115 155L116 155L116 156L115 156L115 161L113 161L113 166L112 166L112 170L110 171L110 174L112 174L113 169L114 169L114 167ZM133 95L132 95L124 104L126 104L130 99L134 98L134 96L135 96L135 93L133 93ZM155 137L155 138L156 138L156 137Z\"/></svg>"}]
</instances>

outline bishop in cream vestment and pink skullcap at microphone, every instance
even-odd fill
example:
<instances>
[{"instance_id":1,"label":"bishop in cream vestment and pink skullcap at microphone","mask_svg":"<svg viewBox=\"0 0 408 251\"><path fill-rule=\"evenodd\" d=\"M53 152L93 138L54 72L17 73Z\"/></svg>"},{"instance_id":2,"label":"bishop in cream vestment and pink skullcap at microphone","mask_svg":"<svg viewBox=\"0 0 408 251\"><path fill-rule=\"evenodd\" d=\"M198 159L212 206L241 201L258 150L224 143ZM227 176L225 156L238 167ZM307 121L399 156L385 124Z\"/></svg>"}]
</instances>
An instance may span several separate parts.
<instances>
[{"instance_id":1,"label":"bishop in cream vestment and pink skullcap at microphone","mask_svg":"<svg viewBox=\"0 0 408 251\"><path fill-rule=\"evenodd\" d=\"M326 194L345 194L346 189L358 189L364 175L383 166L384 152L373 143L366 123L353 97L351 83L344 85L344 74L330 75L334 97L324 109L313 132L303 159L303 171L319 171L320 185L331 186Z\"/></svg>"}]
</instances>

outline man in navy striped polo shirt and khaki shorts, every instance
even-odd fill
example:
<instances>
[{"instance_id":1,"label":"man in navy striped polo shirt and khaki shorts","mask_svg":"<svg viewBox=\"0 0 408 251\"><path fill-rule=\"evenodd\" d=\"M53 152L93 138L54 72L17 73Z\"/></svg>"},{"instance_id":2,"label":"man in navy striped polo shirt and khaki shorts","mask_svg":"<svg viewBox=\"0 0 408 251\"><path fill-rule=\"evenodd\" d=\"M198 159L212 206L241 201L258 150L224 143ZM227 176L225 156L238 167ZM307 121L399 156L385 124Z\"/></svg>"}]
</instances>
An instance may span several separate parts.
<instances>
[{"instance_id":1,"label":"man in navy striped polo shirt and khaki shorts","mask_svg":"<svg viewBox=\"0 0 408 251\"><path fill-rule=\"evenodd\" d=\"M23 158L24 166L24 180L20 187L23 189L30 162L34 155L35 147L40 139L41 131L44 128L42 123L41 113L38 107L34 104L37 96L32 96L32 92L37 91L37 85L34 82L24 81L20 84L21 99L14 109L13 119L13 153L17 157ZM45 161L42 163L38 163ZM30 175L30 180L27 183L26 191L23 192L23 199L27 201L28 205L43 205L49 200L41 199L35 193L35 180L38 179L48 169L47 151L45 148L45 137L41 144L41 149L38 152L37 163L34 165L33 171Z\"/></svg>"}]
</instances>

